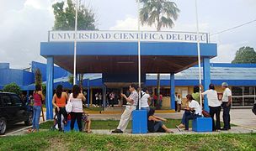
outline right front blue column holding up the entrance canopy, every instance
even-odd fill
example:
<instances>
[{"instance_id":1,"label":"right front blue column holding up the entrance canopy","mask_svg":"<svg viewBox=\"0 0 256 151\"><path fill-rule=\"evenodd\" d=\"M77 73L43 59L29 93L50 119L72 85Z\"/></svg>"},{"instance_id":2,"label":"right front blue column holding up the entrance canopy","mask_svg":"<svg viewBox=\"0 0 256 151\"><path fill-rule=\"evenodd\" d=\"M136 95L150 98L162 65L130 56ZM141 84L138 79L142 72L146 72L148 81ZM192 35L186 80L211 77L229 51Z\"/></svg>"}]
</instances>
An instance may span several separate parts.
<instances>
[{"instance_id":1,"label":"right front blue column holding up the entrance canopy","mask_svg":"<svg viewBox=\"0 0 256 151\"><path fill-rule=\"evenodd\" d=\"M203 86L204 89L207 90L209 85L211 84L211 69L210 69L210 58L204 58L203 59L203 72L204 72L204 81L203 81ZM204 96L204 108L205 111L210 112L209 106L208 106L208 101L207 97Z\"/></svg>"}]
</instances>

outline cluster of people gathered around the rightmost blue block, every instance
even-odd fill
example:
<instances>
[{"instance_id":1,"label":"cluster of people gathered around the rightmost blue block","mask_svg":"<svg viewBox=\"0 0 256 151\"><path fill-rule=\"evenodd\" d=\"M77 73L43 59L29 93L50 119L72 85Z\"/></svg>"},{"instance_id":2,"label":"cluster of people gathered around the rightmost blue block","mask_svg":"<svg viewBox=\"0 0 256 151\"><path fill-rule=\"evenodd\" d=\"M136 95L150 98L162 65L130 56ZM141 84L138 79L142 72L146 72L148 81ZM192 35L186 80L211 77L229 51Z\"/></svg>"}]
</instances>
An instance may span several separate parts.
<instances>
[{"instance_id":1,"label":"cluster of people gathered around the rightmost blue block","mask_svg":"<svg viewBox=\"0 0 256 151\"><path fill-rule=\"evenodd\" d=\"M195 119L197 117L202 117L202 109L200 107L200 88L203 91L203 86L195 86L194 93L192 95L187 95L187 101L189 102L189 107L184 108L185 112L181 123L177 128L180 130L184 128L189 130L189 120ZM204 96L207 97L208 106L210 108L210 116L212 119L212 130L229 130L230 127L230 108L232 102L232 91L228 88L227 82L221 84L223 90L223 95L221 98L218 97L217 91L213 84L209 85L209 89L201 93L202 99ZM223 109L223 122L224 127L221 128L221 107ZM205 112L205 111L203 111ZM216 116L216 122L215 117Z\"/></svg>"}]
</instances>

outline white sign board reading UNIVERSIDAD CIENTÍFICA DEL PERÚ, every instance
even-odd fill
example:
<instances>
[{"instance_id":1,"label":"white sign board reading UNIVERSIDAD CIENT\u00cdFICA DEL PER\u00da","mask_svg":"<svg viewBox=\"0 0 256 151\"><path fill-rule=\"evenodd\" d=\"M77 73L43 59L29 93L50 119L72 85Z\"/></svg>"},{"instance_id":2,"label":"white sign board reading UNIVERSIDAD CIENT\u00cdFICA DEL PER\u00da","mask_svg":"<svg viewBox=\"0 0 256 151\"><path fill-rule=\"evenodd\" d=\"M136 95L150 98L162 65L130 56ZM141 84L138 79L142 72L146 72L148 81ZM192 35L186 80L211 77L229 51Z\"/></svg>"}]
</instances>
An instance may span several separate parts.
<instances>
[{"instance_id":1,"label":"white sign board reading UNIVERSIDAD CIENT\u00cdFICA DEL PER\u00da","mask_svg":"<svg viewBox=\"0 0 256 151\"><path fill-rule=\"evenodd\" d=\"M208 34L200 33L200 43L208 43ZM147 42L197 42L196 33L183 32L151 32L151 31L77 31L78 42L132 42L137 41ZM50 31L50 42L70 42L74 41L74 31Z\"/></svg>"}]
</instances>

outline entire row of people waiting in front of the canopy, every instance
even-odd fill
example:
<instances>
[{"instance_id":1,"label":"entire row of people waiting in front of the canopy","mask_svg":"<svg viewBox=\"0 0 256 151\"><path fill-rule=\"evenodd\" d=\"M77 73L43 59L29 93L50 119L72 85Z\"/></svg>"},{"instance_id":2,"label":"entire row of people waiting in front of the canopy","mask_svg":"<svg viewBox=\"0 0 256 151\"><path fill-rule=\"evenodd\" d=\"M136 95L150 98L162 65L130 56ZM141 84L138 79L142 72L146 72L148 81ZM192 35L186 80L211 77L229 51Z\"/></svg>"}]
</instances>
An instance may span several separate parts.
<instances>
[{"instance_id":1,"label":"entire row of people waiting in front of the canopy","mask_svg":"<svg viewBox=\"0 0 256 151\"><path fill-rule=\"evenodd\" d=\"M203 89L203 86L200 86ZM209 86L209 90L204 91L201 95L202 97L206 96L208 100L208 105L210 107L210 115L212 118L212 129L216 130L228 130L230 129L230 107L232 102L232 92L228 88L226 82L223 82L221 85L224 90L221 99L218 98L217 92L215 90L215 86L211 84ZM33 128L32 131L39 130L39 119L41 112L42 100L45 99L45 96L42 94L41 87L35 86L36 90L34 92L34 116L33 116ZM181 123L177 128L184 130L189 130L189 120L195 119L197 117L202 117L202 108L200 107L200 93L199 86L195 86L195 90L193 94L189 94L186 96L188 106L184 108L184 115L181 120ZM120 117L120 122L118 127L112 131L112 133L124 133L125 129L131 118L131 113L138 108L139 102L139 94L137 90L137 86L135 84L131 84L129 86L130 96L126 96L121 93L120 96L123 97L127 104L125 106L125 111L122 113ZM163 133L173 133L170 129L168 129L163 122L167 122L167 119L162 117L157 117L154 115L155 110L149 107L150 104L150 95L147 90L147 87L143 87L141 89L141 110L147 110L147 129L150 133L155 132L163 132ZM56 92L52 98L52 104L56 109L56 124L59 131L63 131L63 125L67 125L67 117L70 115L71 122L70 128L74 129L74 124L77 121L77 126L79 131L82 132L85 130L87 133L91 133L90 125L91 121L88 118L88 114L83 112L83 102L85 102L86 98L83 96L83 90L74 85L72 87L72 93L67 94L67 92L63 91L63 87L58 85L56 87ZM66 106L67 102L72 102L72 111L67 113ZM181 104L181 103L180 103ZM220 112L221 106L223 108L223 121L224 128L221 128L220 122ZM181 107L179 107L180 109ZM216 115L216 124L214 120L214 116ZM84 129L82 126L82 120L84 122Z\"/></svg>"}]
</instances>

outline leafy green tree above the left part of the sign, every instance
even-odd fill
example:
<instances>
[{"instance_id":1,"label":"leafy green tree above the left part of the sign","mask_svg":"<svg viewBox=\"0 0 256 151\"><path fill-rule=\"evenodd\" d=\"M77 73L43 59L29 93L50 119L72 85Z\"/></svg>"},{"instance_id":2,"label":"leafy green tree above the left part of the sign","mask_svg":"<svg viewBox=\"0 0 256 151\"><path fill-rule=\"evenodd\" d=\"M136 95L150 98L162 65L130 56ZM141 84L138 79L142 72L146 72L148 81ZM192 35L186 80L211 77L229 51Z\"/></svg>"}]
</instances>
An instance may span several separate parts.
<instances>
[{"instance_id":1,"label":"leafy green tree above the left part of the sign","mask_svg":"<svg viewBox=\"0 0 256 151\"><path fill-rule=\"evenodd\" d=\"M76 5L72 0L67 0L67 8L64 2L52 5L55 15L53 30L74 30ZM92 10L81 5L77 11L77 30L95 30L95 17Z\"/></svg>"}]
</instances>

